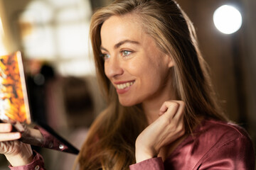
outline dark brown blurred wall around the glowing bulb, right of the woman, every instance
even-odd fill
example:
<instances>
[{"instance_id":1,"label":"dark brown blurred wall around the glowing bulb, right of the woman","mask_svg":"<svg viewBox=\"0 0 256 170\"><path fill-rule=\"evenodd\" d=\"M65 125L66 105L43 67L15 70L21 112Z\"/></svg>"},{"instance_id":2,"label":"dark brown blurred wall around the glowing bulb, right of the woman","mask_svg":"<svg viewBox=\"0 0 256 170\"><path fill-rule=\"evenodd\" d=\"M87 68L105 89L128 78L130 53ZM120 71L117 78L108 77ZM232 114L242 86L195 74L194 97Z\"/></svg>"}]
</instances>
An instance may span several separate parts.
<instances>
[{"instance_id":1,"label":"dark brown blurred wall around the glowing bulb, right of the woman","mask_svg":"<svg viewBox=\"0 0 256 170\"><path fill-rule=\"evenodd\" d=\"M199 45L227 115L245 127L256 143L256 1L177 1L196 26ZM242 27L233 35L220 33L213 24L213 12L223 4L233 4L242 13Z\"/></svg>"}]
</instances>

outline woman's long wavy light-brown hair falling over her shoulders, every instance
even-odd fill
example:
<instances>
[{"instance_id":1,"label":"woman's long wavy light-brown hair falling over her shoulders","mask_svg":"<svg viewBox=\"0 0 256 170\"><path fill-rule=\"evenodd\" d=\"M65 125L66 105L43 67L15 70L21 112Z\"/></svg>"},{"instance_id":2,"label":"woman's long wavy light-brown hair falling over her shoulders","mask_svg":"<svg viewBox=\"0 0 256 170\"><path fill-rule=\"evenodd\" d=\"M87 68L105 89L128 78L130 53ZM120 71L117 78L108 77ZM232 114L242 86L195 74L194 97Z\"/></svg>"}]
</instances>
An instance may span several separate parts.
<instances>
[{"instance_id":1,"label":"woman's long wavy light-brown hair falling over her shoulders","mask_svg":"<svg viewBox=\"0 0 256 170\"><path fill-rule=\"evenodd\" d=\"M174 61L170 88L174 89L176 100L186 104L186 132L192 132L199 116L227 120L215 97L193 24L178 4L172 0L117 0L96 11L90 25L97 79L107 108L92 124L82 146L78 157L80 169L129 169L135 163L135 140L147 126L140 104L130 107L119 104L100 57L102 23L111 16L127 13L139 18L145 33Z\"/></svg>"}]
</instances>

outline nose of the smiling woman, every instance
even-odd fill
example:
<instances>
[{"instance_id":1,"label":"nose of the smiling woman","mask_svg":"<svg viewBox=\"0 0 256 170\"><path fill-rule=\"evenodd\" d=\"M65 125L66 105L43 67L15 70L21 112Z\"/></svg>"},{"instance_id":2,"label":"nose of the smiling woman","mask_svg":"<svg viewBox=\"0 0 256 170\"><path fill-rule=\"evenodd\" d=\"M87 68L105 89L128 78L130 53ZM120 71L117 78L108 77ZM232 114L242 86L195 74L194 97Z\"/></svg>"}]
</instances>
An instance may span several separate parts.
<instances>
[{"instance_id":1,"label":"nose of the smiling woman","mask_svg":"<svg viewBox=\"0 0 256 170\"><path fill-rule=\"evenodd\" d=\"M124 73L118 57L112 56L105 61L105 74L110 78L116 78Z\"/></svg>"}]
</instances>

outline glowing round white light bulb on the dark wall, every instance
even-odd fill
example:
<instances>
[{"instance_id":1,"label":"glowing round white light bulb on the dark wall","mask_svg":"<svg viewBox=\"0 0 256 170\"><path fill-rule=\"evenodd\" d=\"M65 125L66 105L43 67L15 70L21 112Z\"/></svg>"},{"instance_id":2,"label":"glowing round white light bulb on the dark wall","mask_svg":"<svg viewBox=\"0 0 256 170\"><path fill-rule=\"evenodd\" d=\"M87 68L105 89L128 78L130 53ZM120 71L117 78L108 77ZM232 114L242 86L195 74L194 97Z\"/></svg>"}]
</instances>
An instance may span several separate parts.
<instances>
[{"instance_id":1,"label":"glowing round white light bulb on the dark wall","mask_svg":"<svg viewBox=\"0 0 256 170\"><path fill-rule=\"evenodd\" d=\"M213 23L221 33L231 34L242 26L242 16L235 7L223 5L213 13Z\"/></svg>"}]
</instances>

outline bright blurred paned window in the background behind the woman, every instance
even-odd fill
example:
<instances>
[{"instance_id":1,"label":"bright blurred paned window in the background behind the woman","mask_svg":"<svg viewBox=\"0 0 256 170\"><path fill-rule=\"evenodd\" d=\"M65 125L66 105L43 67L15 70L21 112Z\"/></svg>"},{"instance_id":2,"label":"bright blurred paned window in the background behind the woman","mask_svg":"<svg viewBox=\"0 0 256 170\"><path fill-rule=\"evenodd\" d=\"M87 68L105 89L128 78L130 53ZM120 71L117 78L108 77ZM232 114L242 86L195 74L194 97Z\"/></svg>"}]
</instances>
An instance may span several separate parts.
<instances>
[{"instance_id":1,"label":"bright blurred paned window in the background behind the woman","mask_svg":"<svg viewBox=\"0 0 256 170\"><path fill-rule=\"evenodd\" d=\"M18 18L24 56L47 61L61 75L94 74L89 0L31 1Z\"/></svg>"}]
</instances>

